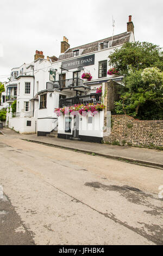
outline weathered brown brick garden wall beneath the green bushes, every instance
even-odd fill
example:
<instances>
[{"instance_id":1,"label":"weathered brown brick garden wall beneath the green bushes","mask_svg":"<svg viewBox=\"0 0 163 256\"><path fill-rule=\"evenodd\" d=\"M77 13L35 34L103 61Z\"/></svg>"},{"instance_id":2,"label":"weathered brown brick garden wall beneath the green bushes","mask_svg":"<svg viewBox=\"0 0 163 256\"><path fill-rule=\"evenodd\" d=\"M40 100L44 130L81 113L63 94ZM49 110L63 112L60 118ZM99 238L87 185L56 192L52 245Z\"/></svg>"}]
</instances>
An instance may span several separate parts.
<instances>
[{"instance_id":1,"label":"weathered brown brick garden wall beneath the green bushes","mask_svg":"<svg viewBox=\"0 0 163 256\"><path fill-rule=\"evenodd\" d=\"M128 115L111 115L111 132L109 128L104 130L103 141L163 147L163 120L136 120Z\"/></svg>"}]
</instances>

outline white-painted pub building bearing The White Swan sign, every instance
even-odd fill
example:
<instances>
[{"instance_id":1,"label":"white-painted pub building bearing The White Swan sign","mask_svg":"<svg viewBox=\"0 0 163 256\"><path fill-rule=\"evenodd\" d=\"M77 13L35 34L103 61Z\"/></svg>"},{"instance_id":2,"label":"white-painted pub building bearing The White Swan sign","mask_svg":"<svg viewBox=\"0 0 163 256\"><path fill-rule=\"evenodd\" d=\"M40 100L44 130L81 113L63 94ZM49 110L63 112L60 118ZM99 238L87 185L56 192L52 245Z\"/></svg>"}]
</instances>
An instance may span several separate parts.
<instances>
[{"instance_id":1,"label":"white-painted pub building bearing The White Swan sign","mask_svg":"<svg viewBox=\"0 0 163 256\"><path fill-rule=\"evenodd\" d=\"M109 81L114 81L115 86L123 84L122 76L108 75L112 68L108 64L109 54L125 42L134 41L134 25L129 16L126 32L102 40L71 48L64 36L59 58L45 59L42 51L36 51L32 62L34 72L28 72L28 76L34 77L33 95L29 99L31 127L24 127L24 131L28 133L27 129L30 129L38 136L100 143L103 139L104 109L96 111L96 114L88 111L82 115L68 110L60 115L60 111L54 109L89 103L92 106L104 105L106 84ZM85 79L84 73L89 73L90 78ZM10 126L12 122L9 122ZM26 126L26 122L24 124Z\"/></svg>"}]
</instances>

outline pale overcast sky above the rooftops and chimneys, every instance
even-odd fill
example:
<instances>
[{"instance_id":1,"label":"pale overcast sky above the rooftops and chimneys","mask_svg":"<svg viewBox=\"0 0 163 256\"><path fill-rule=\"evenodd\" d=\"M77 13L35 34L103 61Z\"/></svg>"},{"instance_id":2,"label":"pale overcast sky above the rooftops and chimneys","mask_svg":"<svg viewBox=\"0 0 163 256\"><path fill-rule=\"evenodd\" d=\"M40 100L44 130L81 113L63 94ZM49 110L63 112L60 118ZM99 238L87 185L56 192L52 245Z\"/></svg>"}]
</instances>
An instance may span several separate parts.
<instances>
[{"instance_id":1,"label":"pale overcast sky above the rooftops and chimneys","mask_svg":"<svg viewBox=\"0 0 163 256\"><path fill-rule=\"evenodd\" d=\"M45 57L59 56L65 35L71 47L127 31L132 15L135 40L162 47L162 0L5 0L0 2L0 81L11 68ZM2 52L3 50L3 52ZM6 77L3 77L6 76Z\"/></svg>"}]
</instances>

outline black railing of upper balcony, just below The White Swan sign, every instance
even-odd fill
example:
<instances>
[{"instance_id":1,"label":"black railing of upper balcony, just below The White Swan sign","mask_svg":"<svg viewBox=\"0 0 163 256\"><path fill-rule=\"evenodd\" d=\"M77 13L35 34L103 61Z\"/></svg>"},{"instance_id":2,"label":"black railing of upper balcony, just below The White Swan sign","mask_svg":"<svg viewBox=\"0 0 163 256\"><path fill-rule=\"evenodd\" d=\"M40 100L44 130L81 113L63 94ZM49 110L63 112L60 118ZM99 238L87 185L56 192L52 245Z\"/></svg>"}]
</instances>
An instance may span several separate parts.
<instances>
[{"instance_id":1,"label":"black railing of upper balcony, just below The White Swan sign","mask_svg":"<svg viewBox=\"0 0 163 256\"><path fill-rule=\"evenodd\" d=\"M76 87L76 86L83 86L83 80L76 77L76 78L46 83L46 89L68 88L68 87Z\"/></svg>"}]
</instances>

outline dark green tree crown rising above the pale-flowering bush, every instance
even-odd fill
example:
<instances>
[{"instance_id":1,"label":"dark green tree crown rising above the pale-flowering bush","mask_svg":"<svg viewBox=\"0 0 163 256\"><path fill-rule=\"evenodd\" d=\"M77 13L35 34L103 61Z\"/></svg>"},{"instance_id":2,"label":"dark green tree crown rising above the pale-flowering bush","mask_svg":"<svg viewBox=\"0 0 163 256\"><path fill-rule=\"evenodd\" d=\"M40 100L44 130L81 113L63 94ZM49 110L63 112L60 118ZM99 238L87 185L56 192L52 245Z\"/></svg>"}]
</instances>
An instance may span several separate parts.
<instances>
[{"instance_id":1,"label":"dark green tree crown rising above the pale-flowering bush","mask_svg":"<svg viewBox=\"0 0 163 256\"><path fill-rule=\"evenodd\" d=\"M163 71L161 48L150 42L126 42L120 49L109 55L109 65L116 68L120 75L128 75L129 70L143 70L156 66Z\"/></svg>"}]
</instances>

